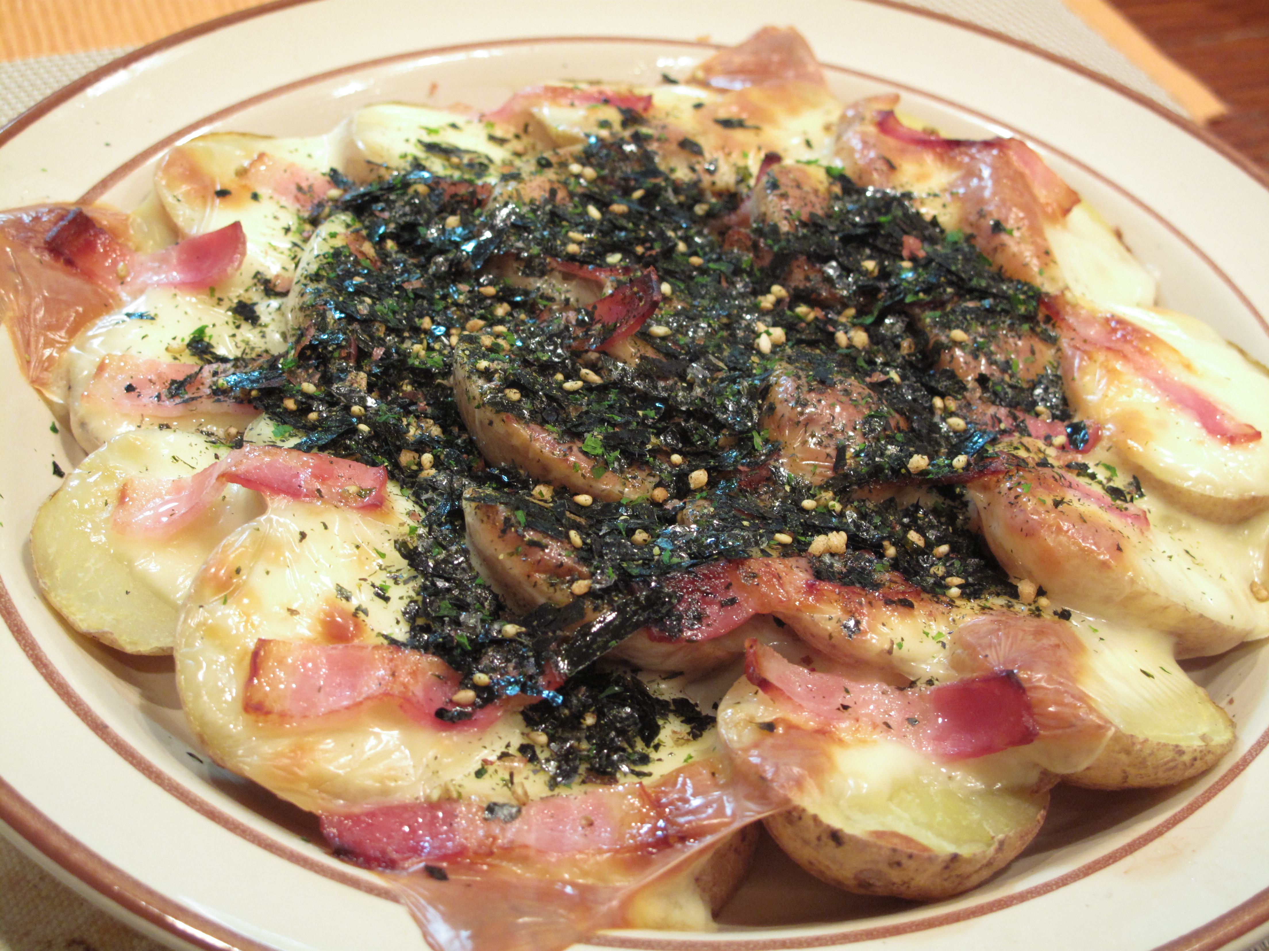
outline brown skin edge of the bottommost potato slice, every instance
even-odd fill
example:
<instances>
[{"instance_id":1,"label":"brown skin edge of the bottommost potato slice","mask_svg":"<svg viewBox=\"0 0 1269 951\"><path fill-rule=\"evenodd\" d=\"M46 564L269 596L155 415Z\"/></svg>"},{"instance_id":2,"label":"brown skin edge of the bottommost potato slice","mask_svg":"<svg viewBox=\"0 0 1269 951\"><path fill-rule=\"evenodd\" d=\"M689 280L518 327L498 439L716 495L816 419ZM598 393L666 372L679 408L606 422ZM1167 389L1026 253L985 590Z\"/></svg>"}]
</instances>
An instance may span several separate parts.
<instances>
[{"instance_id":1,"label":"brown skin edge of the bottommost potato slice","mask_svg":"<svg viewBox=\"0 0 1269 951\"><path fill-rule=\"evenodd\" d=\"M860 895L935 902L968 891L1011 862L1036 837L1048 796L1033 822L972 853L943 853L896 832L863 836L834 828L802 806L764 819L789 857L815 877Z\"/></svg>"}]
</instances>

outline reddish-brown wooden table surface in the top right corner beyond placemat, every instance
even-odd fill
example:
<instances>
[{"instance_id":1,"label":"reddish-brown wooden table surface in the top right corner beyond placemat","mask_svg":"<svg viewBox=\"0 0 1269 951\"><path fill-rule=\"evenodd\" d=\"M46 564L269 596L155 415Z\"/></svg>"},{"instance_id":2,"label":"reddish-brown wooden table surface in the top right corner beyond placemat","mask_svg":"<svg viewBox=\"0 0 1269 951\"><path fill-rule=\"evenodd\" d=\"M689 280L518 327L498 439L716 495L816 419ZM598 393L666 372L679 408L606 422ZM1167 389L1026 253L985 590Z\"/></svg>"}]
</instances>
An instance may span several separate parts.
<instances>
[{"instance_id":1,"label":"reddish-brown wooden table surface in the top right corner beyond placemat","mask_svg":"<svg viewBox=\"0 0 1269 951\"><path fill-rule=\"evenodd\" d=\"M1269 0L1112 0L1230 107L1209 129L1269 172Z\"/></svg>"}]
</instances>

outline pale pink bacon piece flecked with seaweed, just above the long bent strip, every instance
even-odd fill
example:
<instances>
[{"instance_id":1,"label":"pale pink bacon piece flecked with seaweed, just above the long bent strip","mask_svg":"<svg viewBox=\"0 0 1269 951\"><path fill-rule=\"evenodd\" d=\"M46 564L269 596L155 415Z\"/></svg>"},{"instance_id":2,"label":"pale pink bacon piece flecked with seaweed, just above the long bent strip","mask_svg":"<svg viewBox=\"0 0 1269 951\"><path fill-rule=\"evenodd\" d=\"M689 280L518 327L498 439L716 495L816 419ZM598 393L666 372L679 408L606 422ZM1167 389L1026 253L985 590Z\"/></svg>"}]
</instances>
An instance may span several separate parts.
<instances>
[{"instance_id":1,"label":"pale pink bacon piece flecked with seaweed, just above the long bent strip","mask_svg":"<svg viewBox=\"0 0 1269 951\"><path fill-rule=\"evenodd\" d=\"M107 354L96 365L81 398L85 406L112 407L118 412L154 418L193 413L228 413L244 420L260 411L212 391L216 366L168 363L133 354ZM184 383L179 392L174 384Z\"/></svg>"}]
</instances>

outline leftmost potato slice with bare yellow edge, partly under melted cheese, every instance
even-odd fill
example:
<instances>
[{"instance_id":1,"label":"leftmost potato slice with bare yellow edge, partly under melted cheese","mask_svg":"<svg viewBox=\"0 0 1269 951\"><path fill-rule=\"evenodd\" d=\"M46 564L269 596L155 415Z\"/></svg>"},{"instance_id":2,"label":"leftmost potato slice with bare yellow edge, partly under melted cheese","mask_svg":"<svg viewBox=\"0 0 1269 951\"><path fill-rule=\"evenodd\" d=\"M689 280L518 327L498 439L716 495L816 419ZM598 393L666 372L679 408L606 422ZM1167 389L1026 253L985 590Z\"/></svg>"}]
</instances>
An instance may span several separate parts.
<instances>
[{"instance_id":1,"label":"leftmost potato slice with bare yellow edge, partly under melted cheese","mask_svg":"<svg viewBox=\"0 0 1269 951\"><path fill-rule=\"evenodd\" d=\"M88 456L44 502L30 533L36 577L76 630L133 654L171 650L194 574L264 503L250 489L225 486L192 525L159 544L117 531L114 510L129 479L192 476L227 451L193 432L126 432Z\"/></svg>"}]
</instances>

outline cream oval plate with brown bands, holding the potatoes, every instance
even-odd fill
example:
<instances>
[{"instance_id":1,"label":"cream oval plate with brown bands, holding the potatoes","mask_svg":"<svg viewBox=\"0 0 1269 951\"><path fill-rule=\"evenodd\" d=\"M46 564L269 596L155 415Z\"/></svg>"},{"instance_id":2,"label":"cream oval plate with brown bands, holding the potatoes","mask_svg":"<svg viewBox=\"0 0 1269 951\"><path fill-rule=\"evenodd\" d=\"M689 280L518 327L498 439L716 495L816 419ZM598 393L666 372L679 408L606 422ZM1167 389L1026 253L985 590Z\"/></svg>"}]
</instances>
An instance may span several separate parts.
<instances>
[{"instance_id":1,"label":"cream oval plate with brown bands, holding the potatoes","mask_svg":"<svg viewBox=\"0 0 1269 951\"><path fill-rule=\"evenodd\" d=\"M0 208L89 195L128 207L150 164L211 128L311 134L385 99L478 107L546 77L655 81L792 19L843 98L898 90L950 133L1030 141L1162 275L1164 303L1269 361L1269 189L1200 133L1088 74L981 32L863 0L478 6L418 0L275 4L107 67L0 133ZM659 39L612 39L612 37ZM607 38L605 38L607 37ZM528 39L527 39L528 38ZM420 52L425 51L425 52ZM419 951L382 883L315 844L303 814L211 767L170 663L67 634L41 601L27 530L80 454L0 347L0 820L114 910L201 948ZM595 946L758 951L1244 946L1269 921L1269 650L1192 673L1236 718L1212 773L1173 790L1060 790L1039 839L995 880L928 907L841 895L779 856L712 936L622 932Z\"/></svg>"}]
</instances>

